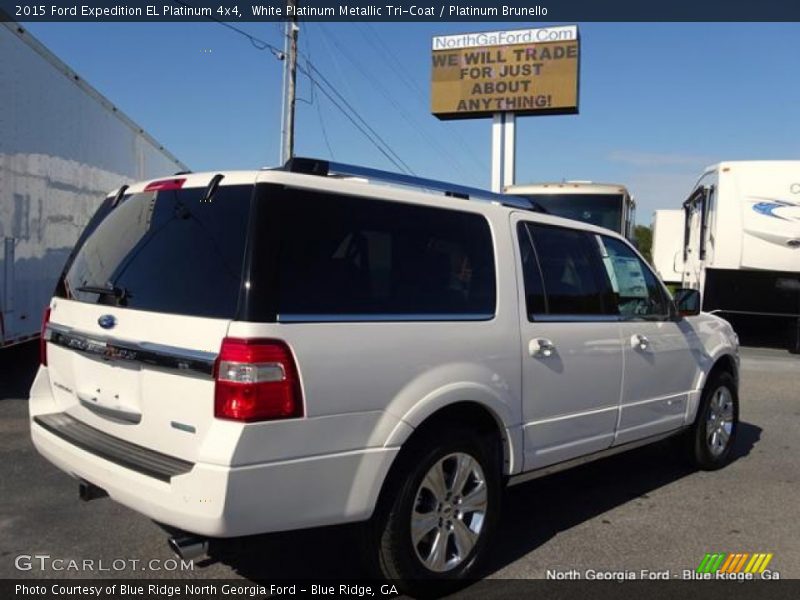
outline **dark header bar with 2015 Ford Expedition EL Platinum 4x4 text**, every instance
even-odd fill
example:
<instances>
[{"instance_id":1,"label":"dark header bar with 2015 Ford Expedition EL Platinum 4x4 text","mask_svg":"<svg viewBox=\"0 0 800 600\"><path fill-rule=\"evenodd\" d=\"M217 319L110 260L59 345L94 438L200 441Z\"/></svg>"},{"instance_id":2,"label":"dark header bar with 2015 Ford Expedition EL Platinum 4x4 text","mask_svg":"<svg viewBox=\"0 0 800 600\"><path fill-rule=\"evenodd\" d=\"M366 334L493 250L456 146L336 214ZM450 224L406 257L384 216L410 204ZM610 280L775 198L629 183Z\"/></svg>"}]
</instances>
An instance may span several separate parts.
<instances>
[{"instance_id":1,"label":"dark header bar with 2015 Ford Expedition EL Platinum 4x4 text","mask_svg":"<svg viewBox=\"0 0 800 600\"><path fill-rule=\"evenodd\" d=\"M789 0L0 0L0 20L34 22L246 21L554 22L800 21Z\"/></svg>"}]
</instances>

